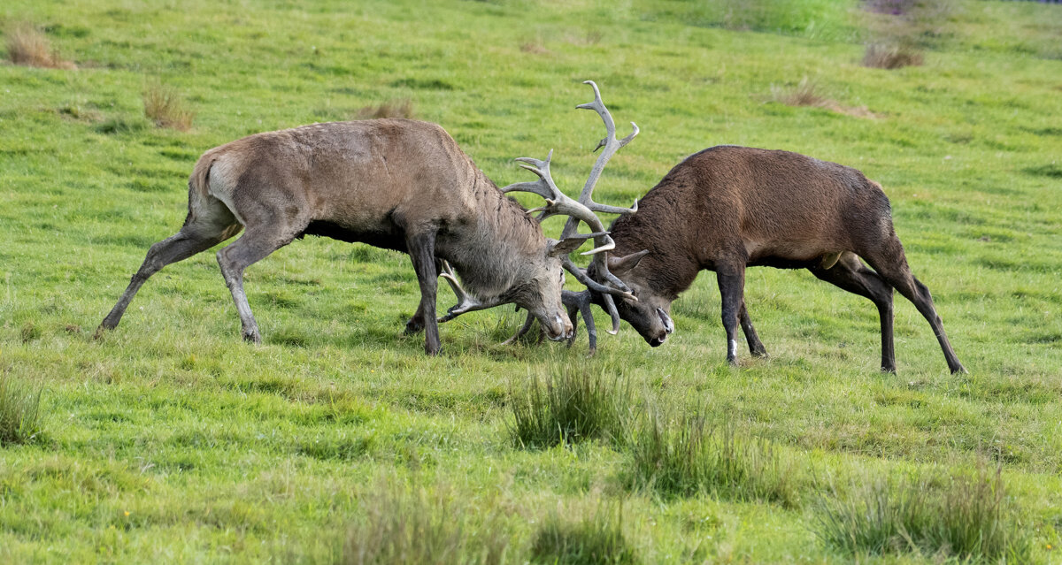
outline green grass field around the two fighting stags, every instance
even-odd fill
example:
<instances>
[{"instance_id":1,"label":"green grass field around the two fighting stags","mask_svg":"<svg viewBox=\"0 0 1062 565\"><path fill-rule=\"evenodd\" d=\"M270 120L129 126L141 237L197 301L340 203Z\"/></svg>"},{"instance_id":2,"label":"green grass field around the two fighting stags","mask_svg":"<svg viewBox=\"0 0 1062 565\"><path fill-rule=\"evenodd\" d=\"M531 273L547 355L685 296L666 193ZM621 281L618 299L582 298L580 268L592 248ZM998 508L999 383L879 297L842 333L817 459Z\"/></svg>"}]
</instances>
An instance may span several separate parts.
<instances>
[{"instance_id":1,"label":"green grass field around the two fighting stags","mask_svg":"<svg viewBox=\"0 0 1062 565\"><path fill-rule=\"evenodd\" d=\"M948 6L917 41L924 65L881 70L860 65L868 16L843 0L3 2L5 40L28 22L73 65L0 64L0 424L40 394L32 438L0 440L0 561L1062 561L1062 6ZM575 109L583 80L643 131L599 202L629 205L722 143L881 183L970 374L948 374L898 295L898 373L878 372L869 301L771 269L746 291L771 357L742 350L739 369L710 273L663 347L630 327L593 358L584 335L501 346L523 312L500 308L443 325L428 358L401 333L409 258L316 238L247 271L260 346L212 253L92 339L179 228L203 151L392 104L499 185L552 148L575 194L602 130ZM835 104L775 101L807 85ZM160 91L193 113L187 131L144 116ZM601 388L583 401L619 431L514 439L534 382ZM886 531L859 509L896 504L928 533L829 533ZM935 537L953 523L997 529L964 553Z\"/></svg>"}]
</instances>

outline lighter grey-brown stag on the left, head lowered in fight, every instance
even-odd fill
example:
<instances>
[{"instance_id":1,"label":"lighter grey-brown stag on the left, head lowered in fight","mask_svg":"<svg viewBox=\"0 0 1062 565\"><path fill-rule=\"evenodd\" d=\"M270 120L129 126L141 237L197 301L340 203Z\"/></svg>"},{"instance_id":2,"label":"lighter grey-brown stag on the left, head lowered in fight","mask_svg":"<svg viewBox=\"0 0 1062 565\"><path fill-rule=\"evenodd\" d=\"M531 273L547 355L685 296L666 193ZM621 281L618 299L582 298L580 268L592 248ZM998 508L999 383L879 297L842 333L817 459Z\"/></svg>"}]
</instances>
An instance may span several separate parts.
<instances>
[{"instance_id":1,"label":"lighter grey-brown stag on the left, head lowered in fight","mask_svg":"<svg viewBox=\"0 0 1062 565\"><path fill-rule=\"evenodd\" d=\"M411 120L322 123L238 139L204 153L188 186L184 226L152 245L97 335L118 325L158 270L245 229L218 252L218 263L247 341L260 337L243 292L244 269L304 235L409 254L421 303L407 331L426 330L428 354L440 350L436 281L445 271L456 282L450 264L469 292L447 318L515 303L559 340L573 332L561 303L563 262L586 239L601 238L547 239L442 127ZM600 226L590 209L563 194L552 195L547 209Z\"/></svg>"}]
</instances>

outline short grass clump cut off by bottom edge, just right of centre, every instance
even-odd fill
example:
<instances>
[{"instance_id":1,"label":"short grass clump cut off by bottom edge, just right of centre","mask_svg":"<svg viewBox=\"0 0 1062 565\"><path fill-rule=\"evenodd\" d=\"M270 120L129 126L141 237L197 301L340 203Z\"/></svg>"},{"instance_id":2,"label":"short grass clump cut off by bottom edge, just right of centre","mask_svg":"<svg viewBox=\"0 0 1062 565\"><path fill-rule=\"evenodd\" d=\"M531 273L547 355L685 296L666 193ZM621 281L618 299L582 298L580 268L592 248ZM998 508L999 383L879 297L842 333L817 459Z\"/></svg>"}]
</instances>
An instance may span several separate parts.
<instances>
[{"instance_id":1,"label":"short grass clump cut off by bottom edge, just right of centre","mask_svg":"<svg viewBox=\"0 0 1062 565\"><path fill-rule=\"evenodd\" d=\"M616 507L580 521L550 514L531 543L531 563L628 565L638 563L638 558L623 535L622 509Z\"/></svg>"}]
</instances>

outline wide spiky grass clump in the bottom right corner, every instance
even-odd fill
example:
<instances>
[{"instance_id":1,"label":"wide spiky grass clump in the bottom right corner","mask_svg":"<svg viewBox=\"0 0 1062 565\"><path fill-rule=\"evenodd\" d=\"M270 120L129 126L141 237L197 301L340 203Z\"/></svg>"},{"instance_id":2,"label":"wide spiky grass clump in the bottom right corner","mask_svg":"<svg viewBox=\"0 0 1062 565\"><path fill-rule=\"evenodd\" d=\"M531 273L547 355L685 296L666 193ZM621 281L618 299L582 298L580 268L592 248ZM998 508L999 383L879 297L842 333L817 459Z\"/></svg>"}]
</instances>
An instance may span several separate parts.
<instances>
[{"instance_id":1,"label":"wide spiky grass clump in the bottom right corner","mask_svg":"<svg viewBox=\"0 0 1062 565\"><path fill-rule=\"evenodd\" d=\"M815 532L849 554L920 553L960 562L1027 563L1031 546L1001 467L973 475L869 478L817 503Z\"/></svg>"}]
</instances>

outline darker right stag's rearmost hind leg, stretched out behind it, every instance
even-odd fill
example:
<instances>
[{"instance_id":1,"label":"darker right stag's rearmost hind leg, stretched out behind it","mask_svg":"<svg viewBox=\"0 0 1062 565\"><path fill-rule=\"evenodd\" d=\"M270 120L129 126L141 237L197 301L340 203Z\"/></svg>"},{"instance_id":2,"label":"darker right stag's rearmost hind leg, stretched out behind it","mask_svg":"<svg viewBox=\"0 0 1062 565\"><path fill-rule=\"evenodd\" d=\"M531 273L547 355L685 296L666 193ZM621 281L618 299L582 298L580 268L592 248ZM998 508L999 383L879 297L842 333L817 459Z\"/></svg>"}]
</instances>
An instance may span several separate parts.
<instances>
[{"instance_id":1,"label":"darker right stag's rearmost hind leg, stretched out behind it","mask_svg":"<svg viewBox=\"0 0 1062 565\"><path fill-rule=\"evenodd\" d=\"M904 246L900 243L900 238L896 237L895 233L890 229L881 245L859 255L877 271L881 278L900 291L904 297L911 301L922 316L929 322L952 373L965 373L965 367L959 362L955 349L952 348L952 343L947 340L947 335L944 333L944 325L940 315L937 314L929 289L911 274L907 257L904 255Z\"/></svg>"}]
</instances>

